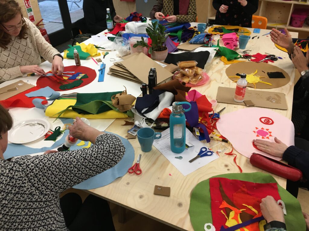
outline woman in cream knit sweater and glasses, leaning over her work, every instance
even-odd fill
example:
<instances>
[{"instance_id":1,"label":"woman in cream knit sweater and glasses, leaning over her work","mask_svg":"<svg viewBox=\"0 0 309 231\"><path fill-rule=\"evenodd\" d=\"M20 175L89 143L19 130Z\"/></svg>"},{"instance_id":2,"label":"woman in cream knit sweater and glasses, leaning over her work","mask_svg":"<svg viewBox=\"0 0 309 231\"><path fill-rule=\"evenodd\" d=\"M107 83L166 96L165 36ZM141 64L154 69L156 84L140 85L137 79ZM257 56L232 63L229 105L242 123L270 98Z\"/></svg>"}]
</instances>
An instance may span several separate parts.
<instances>
[{"instance_id":1,"label":"woman in cream knit sweater and glasses, leaning over her work","mask_svg":"<svg viewBox=\"0 0 309 231\"><path fill-rule=\"evenodd\" d=\"M23 73L45 74L38 66L40 56L52 63L54 74L62 73L62 56L30 20L23 18L18 3L0 0L0 83Z\"/></svg>"}]
</instances>

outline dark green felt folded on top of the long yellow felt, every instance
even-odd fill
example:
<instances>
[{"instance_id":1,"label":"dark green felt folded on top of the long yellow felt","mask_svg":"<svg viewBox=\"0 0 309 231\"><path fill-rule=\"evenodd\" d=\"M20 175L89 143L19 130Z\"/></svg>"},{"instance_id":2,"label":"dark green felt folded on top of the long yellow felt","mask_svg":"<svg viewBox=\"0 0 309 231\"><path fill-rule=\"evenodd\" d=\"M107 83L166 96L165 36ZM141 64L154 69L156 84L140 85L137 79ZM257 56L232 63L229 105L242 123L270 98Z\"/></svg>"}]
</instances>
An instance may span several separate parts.
<instances>
[{"instance_id":1,"label":"dark green felt folded on top of the long yellow felt","mask_svg":"<svg viewBox=\"0 0 309 231\"><path fill-rule=\"evenodd\" d=\"M111 110L111 107L106 103L101 103L101 106L98 109L94 109L89 111L83 110L81 108L76 108L75 106L85 105L87 103L91 103L95 100L104 100L111 101L113 95L119 94L122 91L114 91L114 92L102 92L102 93L77 93L76 95L76 103L72 109L76 111L78 114L99 114L105 111ZM96 110L96 111L95 111ZM93 113L95 112L95 113Z\"/></svg>"}]
</instances>

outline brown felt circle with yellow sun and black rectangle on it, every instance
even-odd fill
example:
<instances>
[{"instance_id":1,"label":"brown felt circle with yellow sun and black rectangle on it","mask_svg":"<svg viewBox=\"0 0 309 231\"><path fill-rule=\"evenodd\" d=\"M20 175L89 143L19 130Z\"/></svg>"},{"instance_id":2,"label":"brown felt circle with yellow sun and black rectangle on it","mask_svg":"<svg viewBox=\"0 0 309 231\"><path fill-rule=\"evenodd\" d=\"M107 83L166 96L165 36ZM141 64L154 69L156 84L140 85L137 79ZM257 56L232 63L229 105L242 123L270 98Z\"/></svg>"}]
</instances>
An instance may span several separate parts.
<instances>
[{"instance_id":1,"label":"brown felt circle with yellow sun and black rectangle on it","mask_svg":"<svg viewBox=\"0 0 309 231\"><path fill-rule=\"evenodd\" d=\"M275 61L280 62L280 61ZM280 67L274 66L276 64L269 64L269 63L256 63L256 62L241 62L241 63L234 63L231 64L229 67L226 68L225 73L227 76L235 76L237 73L246 73L251 74L254 73L257 70L256 75L263 76L266 78L261 78L260 80L271 83L273 85L268 85L266 83L256 83L256 88L259 89L271 89L271 88L277 88L282 87L290 82L290 76L286 71L282 70ZM264 72L265 73L264 73ZM283 75L286 77L284 79L270 79L267 75L267 72L282 72ZM237 80L237 78L228 78L230 81ZM235 83L236 87L236 83ZM254 85L252 83L248 83L248 87L253 87Z\"/></svg>"}]
</instances>

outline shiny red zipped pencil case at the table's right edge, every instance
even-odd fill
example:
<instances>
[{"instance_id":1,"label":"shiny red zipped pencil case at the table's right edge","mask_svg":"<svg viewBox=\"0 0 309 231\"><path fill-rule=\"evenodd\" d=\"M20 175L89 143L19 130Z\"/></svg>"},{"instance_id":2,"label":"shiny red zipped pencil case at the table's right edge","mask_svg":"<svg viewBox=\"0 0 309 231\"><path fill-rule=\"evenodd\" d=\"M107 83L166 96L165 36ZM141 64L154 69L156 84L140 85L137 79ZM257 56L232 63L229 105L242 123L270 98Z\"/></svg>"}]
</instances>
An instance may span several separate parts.
<instances>
[{"instance_id":1,"label":"shiny red zipped pencil case at the table's right edge","mask_svg":"<svg viewBox=\"0 0 309 231\"><path fill-rule=\"evenodd\" d=\"M253 152L252 156L250 157L250 163L253 166L288 180L298 181L303 177L302 171L300 171L298 168L294 168L288 164L284 164L278 160L273 160L255 152Z\"/></svg>"}]
</instances>

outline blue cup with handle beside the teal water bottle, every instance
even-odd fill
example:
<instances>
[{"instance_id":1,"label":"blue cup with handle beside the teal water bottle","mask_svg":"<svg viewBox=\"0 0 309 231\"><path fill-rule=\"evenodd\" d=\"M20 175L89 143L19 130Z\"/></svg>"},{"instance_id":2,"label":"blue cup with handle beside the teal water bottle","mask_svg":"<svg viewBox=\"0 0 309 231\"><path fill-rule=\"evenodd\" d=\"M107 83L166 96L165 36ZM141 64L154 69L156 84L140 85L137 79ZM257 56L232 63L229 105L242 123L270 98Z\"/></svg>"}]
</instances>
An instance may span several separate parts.
<instances>
[{"instance_id":1,"label":"blue cup with handle beside the teal water bottle","mask_svg":"<svg viewBox=\"0 0 309 231\"><path fill-rule=\"evenodd\" d=\"M155 132L152 128L141 128L137 132L138 142L143 152L150 152L154 140L161 138L161 132Z\"/></svg>"}]
</instances>

